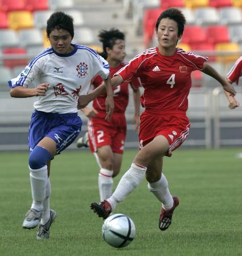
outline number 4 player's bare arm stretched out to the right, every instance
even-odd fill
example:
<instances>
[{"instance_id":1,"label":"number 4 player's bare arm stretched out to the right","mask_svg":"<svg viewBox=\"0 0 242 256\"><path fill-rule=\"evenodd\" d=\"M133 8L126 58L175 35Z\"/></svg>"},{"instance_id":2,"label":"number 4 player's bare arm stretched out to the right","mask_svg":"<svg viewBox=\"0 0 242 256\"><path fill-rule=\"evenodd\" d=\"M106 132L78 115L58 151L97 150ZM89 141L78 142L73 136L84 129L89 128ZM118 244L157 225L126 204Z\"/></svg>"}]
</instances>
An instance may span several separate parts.
<instances>
[{"instance_id":1,"label":"number 4 player's bare arm stretched out to the right","mask_svg":"<svg viewBox=\"0 0 242 256\"><path fill-rule=\"evenodd\" d=\"M223 76L221 76L214 68L212 68L207 63L204 64L202 72L207 74L208 76L213 77L216 79L222 86L226 92L230 93L231 96L235 96L236 90L230 84L230 82L226 81Z\"/></svg>"}]
</instances>

